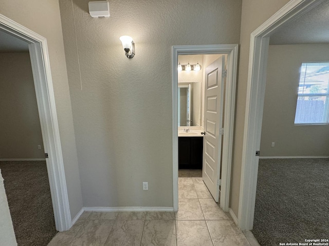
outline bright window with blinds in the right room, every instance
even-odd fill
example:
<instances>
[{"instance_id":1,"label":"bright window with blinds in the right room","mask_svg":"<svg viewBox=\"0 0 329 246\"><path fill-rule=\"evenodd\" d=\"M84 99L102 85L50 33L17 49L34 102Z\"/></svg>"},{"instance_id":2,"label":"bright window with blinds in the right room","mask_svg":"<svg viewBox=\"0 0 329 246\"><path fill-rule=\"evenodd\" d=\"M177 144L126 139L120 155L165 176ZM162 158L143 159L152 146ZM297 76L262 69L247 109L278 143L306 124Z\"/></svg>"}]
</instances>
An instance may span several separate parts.
<instances>
[{"instance_id":1,"label":"bright window with blinds in the right room","mask_svg":"<svg viewBox=\"0 0 329 246\"><path fill-rule=\"evenodd\" d=\"M329 61L302 63L295 125L329 124Z\"/></svg>"}]
</instances>

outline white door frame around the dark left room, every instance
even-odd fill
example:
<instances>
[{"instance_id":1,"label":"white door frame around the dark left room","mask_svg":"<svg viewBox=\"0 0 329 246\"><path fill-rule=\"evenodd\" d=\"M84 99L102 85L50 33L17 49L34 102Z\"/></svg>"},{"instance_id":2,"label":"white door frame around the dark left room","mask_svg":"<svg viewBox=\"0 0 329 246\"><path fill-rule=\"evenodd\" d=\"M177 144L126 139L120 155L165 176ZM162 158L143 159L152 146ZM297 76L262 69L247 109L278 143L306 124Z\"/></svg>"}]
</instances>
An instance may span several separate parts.
<instances>
[{"instance_id":1,"label":"white door frame around the dark left room","mask_svg":"<svg viewBox=\"0 0 329 246\"><path fill-rule=\"evenodd\" d=\"M20 38L29 45L36 102L42 138L48 153L47 170L56 229L66 231L72 226L69 210L64 162L53 93L46 38L0 14L0 31Z\"/></svg>"}]
</instances>

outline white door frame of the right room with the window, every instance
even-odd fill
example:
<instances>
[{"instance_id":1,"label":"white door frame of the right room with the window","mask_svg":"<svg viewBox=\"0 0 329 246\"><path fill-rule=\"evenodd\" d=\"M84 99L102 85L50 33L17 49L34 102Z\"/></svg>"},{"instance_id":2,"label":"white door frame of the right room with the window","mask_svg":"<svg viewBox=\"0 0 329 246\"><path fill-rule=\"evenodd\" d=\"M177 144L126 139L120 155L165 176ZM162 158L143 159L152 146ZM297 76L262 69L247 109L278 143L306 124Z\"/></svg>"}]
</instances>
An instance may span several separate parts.
<instances>
[{"instance_id":1,"label":"white door frame of the right room with the window","mask_svg":"<svg viewBox=\"0 0 329 246\"><path fill-rule=\"evenodd\" d=\"M323 1L291 0L251 33L239 214L237 216L238 226L242 230L251 230L253 226L259 161L259 156L255 156L255 152L260 150L270 35Z\"/></svg>"}]
</instances>

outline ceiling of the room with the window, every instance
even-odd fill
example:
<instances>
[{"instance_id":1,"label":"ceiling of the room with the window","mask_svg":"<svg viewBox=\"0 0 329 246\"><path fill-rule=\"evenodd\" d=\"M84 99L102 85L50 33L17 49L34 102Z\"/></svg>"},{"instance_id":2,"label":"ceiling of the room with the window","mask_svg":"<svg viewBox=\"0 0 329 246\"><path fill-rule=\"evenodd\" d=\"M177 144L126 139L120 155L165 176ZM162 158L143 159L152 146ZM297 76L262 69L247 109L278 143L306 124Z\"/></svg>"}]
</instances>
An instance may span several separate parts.
<instances>
[{"instance_id":1,"label":"ceiling of the room with the window","mask_svg":"<svg viewBox=\"0 0 329 246\"><path fill-rule=\"evenodd\" d=\"M329 43L329 1L296 18L270 36L270 45Z\"/></svg>"}]
</instances>

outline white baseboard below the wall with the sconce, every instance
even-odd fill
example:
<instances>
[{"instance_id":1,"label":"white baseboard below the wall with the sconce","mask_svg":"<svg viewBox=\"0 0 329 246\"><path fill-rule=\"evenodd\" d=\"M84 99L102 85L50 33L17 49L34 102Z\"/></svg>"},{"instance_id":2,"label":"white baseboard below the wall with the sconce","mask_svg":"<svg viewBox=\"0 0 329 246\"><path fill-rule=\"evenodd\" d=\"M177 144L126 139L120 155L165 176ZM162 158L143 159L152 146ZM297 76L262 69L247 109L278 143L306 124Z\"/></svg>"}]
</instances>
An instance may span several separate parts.
<instances>
[{"instance_id":1,"label":"white baseboard below the wall with the sconce","mask_svg":"<svg viewBox=\"0 0 329 246\"><path fill-rule=\"evenodd\" d=\"M88 212L173 212L173 207L84 207Z\"/></svg>"}]
</instances>

